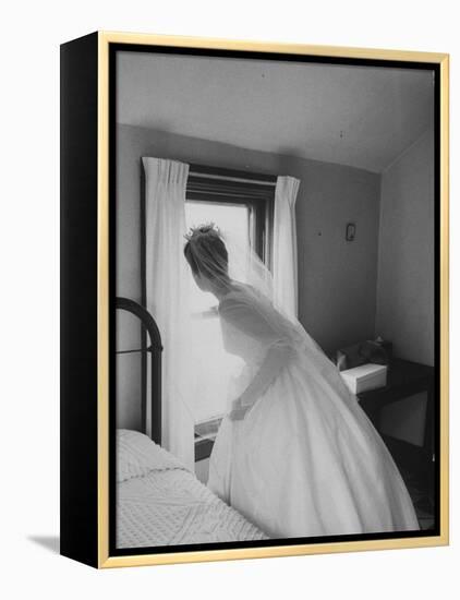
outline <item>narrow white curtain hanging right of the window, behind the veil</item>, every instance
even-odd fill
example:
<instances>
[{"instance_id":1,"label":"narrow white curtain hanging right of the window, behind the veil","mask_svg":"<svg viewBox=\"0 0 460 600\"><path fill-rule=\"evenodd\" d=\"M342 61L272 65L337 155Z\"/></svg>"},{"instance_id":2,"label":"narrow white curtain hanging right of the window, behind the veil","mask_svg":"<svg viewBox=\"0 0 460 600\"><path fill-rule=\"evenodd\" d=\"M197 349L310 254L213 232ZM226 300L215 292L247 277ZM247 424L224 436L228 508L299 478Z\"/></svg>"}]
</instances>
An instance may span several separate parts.
<instances>
[{"instance_id":1,"label":"narrow white curtain hanging right of the window, behind the veil","mask_svg":"<svg viewBox=\"0 0 460 600\"><path fill-rule=\"evenodd\" d=\"M274 300L289 316L298 316L298 244L295 200L300 180L278 177L274 215Z\"/></svg>"}]
</instances>

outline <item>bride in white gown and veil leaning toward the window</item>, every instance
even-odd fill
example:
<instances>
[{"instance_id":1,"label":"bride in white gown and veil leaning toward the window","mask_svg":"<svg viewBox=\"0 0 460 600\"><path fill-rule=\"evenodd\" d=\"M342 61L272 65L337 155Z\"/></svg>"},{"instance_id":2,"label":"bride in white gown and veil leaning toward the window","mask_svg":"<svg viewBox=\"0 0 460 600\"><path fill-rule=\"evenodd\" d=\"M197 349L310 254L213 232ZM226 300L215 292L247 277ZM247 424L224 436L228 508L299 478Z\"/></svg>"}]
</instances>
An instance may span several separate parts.
<instances>
[{"instance_id":1,"label":"bride in white gown and veil leaning toward the window","mask_svg":"<svg viewBox=\"0 0 460 600\"><path fill-rule=\"evenodd\" d=\"M383 440L337 367L275 308L262 261L243 257L243 283L232 276L237 259L213 224L186 239L197 286L219 302L225 349L244 361L208 487L271 538L419 529Z\"/></svg>"}]
</instances>

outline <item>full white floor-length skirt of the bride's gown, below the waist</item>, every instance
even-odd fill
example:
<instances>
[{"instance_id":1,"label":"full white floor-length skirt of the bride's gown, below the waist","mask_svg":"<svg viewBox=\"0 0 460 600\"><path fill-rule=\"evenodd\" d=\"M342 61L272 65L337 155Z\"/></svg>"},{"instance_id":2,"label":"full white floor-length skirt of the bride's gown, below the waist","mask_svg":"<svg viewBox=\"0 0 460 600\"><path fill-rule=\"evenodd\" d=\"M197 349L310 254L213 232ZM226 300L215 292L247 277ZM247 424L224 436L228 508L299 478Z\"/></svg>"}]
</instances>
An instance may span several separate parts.
<instances>
[{"instance_id":1,"label":"full white floor-length skirt of the bride's gown, below the waist","mask_svg":"<svg viewBox=\"0 0 460 600\"><path fill-rule=\"evenodd\" d=\"M300 356L243 420L223 418L208 487L271 538L419 529L390 453L326 358L312 370Z\"/></svg>"}]
</instances>

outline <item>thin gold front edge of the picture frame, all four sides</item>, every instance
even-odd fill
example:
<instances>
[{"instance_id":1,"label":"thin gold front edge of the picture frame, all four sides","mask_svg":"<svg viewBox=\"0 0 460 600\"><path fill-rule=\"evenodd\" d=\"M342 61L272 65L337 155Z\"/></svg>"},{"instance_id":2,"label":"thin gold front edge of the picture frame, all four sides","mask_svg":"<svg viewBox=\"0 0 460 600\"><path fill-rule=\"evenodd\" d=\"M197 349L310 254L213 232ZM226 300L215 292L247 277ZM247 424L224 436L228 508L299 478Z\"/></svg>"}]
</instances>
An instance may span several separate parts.
<instances>
[{"instance_id":1,"label":"thin gold front edge of the picture frame, all four sides","mask_svg":"<svg viewBox=\"0 0 460 600\"><path fill-rule=\"evenodd\" d=\"M109 44L177 46L277 52L440 65L440 535L315 544L109 556ZM371 550L427 548L449 543L449 55L339 46L310 46L222 38L98 32L98 567L280 557Z\"/></svg>"}]
</instances>

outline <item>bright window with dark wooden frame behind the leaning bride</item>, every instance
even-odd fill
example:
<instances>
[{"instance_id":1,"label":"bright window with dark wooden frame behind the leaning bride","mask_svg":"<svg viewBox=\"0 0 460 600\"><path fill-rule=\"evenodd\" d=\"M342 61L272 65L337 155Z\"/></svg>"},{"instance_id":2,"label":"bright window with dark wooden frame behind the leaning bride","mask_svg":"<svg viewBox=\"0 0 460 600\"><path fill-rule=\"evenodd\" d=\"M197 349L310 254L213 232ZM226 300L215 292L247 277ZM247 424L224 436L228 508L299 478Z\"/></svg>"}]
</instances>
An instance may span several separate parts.
<instances>
[{"instance_id":1,"label":"bright window with dark wooden frame behind the leaning bride","mask_svg":"<svg viewBox=\"0 0 460 600\"><path fill-rule=\"evenodd\" d=\"M185 218L186 226L213 221L225 228L241 245L252 248L270 266L270 235L276 178L254 173L191 166ZM198 391L195 405L195 458L210 454L222 415L228 409L229 374L226 368L241 369L238 357L229 358L221 345L216 298L204 293L191 277L192 313L197 319L196 351L206 355L206 347L219 348L206 355L207 386ZM213 394L208 389L213 389Z\"/></svg>"}]
</instances>

